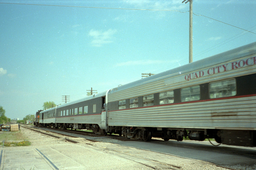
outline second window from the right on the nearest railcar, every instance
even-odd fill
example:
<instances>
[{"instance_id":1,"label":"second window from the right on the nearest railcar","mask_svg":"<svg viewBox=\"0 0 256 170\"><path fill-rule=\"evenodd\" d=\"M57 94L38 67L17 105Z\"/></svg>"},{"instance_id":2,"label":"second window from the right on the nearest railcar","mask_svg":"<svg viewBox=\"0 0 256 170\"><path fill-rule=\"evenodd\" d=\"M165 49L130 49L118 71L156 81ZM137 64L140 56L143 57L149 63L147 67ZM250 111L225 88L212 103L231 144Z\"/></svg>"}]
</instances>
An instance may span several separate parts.
<instances>
[{"instance_id":1,"label":"second window from the right on the nearest railcar","mask_svg":"<svg viewBox=\"0 0 256 170\"><path fill-rule=\"evenodd\" d=\"M181 102L200 100L200 86L181 89Z\"/></svg>"}]
</instances>

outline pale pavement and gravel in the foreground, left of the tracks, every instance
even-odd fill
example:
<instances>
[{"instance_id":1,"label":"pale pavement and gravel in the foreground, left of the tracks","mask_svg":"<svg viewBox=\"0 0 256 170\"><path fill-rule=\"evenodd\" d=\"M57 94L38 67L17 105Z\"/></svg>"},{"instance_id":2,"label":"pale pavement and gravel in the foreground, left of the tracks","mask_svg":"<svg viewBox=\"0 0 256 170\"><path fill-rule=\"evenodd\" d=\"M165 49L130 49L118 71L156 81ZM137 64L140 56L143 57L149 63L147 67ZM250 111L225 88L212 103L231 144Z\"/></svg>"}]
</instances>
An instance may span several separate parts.
<instances>
[{"instance_id":1,"label":"pale pavement and gravel in the foreground, left of the tracks","mask_svg":"<svg viewBox=\"0 0 256 170\"><path fill-rule=\"evenodd\" d=\"M122 158L115 155L68 142L41 146L4 147L0 152L1 170L115 169L113 167L137 169L143 166L126 159L122 161ZM112 168L109 167L110 165Z\"/></svg>"}]
</instances>

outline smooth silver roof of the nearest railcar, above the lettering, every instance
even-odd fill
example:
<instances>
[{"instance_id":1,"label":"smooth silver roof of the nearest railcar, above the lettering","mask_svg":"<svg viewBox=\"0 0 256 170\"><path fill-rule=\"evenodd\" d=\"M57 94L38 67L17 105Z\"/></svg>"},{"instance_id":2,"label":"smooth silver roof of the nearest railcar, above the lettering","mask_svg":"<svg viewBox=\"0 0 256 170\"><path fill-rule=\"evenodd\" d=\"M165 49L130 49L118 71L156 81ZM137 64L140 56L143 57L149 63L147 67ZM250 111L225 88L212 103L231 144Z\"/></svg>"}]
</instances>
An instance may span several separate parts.
<instances>
[{"instance_id":1,"label":"smooth silver roof of the nearest railcar, above the lettering","mask_svg":"<svg viewBox=\"0 0 256 170\"><path fill-rule=\"evenodd\" d=\"M188 72L191 72L193 70L203 69L205 67L210 67L219 63L223 63L226 61L231 61L246 55L251 55L256 53L256 42L253 42L251 44L247 44L238 48L231 49L229 51L213 55L207 58L204 58L202 60L198 60L168 71L161 72L159 74L143 78L122 86L118 86L116 88L111 89L108 93L114 93L118 91L122 91L125 89L129 89L132 87L148 84L157 80L161 80L167 77L173 77L177 76L179 74L185 74ZM118 89L118 90L117 90Z\"/></svg>"}]
</instances>

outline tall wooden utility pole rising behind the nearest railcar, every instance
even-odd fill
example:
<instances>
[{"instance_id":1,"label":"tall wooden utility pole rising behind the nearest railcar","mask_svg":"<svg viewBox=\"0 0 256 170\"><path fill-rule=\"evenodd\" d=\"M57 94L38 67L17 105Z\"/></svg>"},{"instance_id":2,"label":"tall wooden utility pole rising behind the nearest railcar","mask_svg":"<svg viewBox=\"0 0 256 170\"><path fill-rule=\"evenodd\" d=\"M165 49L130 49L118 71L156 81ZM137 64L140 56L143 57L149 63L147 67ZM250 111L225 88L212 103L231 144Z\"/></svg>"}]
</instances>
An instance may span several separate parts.
<instances>
[{"instance_id":1,"label":"tall wooden utility pole rising behind the nearest railcar","mask_svg":"<svg viewBox=\"0 0 256 170\"><path fill-rule=\"evenodd\" d=\"M186 2L185 2L186 1ZM193 0L184 0L187 4L189 2L189 63L193 62L193 10L192 2Z\"/></svg>"}]
</instances>

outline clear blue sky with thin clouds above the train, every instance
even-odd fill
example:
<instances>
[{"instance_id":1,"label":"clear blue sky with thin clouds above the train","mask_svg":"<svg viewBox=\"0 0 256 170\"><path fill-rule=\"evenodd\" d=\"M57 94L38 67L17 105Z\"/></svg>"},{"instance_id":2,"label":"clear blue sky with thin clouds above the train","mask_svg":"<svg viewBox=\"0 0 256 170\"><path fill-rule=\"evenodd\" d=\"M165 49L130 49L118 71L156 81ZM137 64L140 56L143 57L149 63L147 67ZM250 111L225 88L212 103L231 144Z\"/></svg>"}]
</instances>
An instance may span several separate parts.
<instances>
[{"instance_id":1,"label":"clear blue sky with thin clouds above the train","mask_svg":"<svg viewBox=\"0 0 256 170\"><path fill-rule=\"evenodd\" d=\"M46 101L63 104L62 95L74 101L91 87L102 92L187 64L189 3L182 1L1 0L5 115L23 119ZM193 61L256 40L254 0L194 0L193 12Z\"/></svg>"}]
</instances>

